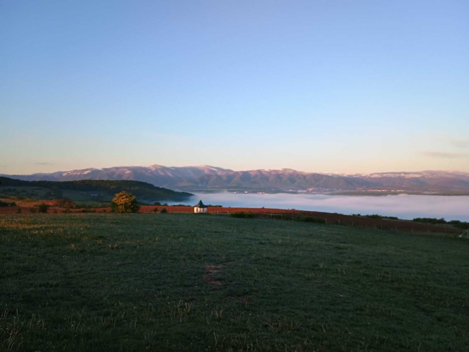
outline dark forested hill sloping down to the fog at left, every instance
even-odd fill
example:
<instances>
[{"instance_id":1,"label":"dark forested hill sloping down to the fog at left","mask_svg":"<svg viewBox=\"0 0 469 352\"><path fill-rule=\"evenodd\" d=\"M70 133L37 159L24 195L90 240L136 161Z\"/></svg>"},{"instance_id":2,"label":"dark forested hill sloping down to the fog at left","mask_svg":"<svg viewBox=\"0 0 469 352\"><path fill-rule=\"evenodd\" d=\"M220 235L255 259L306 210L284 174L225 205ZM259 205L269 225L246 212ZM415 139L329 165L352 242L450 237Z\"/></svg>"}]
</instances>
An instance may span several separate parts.
<instances>
[{"instance_id":1,"label":"dark forested hill sloping down to the fog at left","mask_svg":"<svg viewBox=\"0 0 469 352\"><path fill-rule=\"evenodd\" d=\"M141 181L129 180L78 180L78 181L22 181L9 177L0 177L0 186L41 187L60 191L87 191L113 195L120 191L130 192L138 199L185 200L192 193L177 192L156 187Z\"/></svg>"}]
</instances>

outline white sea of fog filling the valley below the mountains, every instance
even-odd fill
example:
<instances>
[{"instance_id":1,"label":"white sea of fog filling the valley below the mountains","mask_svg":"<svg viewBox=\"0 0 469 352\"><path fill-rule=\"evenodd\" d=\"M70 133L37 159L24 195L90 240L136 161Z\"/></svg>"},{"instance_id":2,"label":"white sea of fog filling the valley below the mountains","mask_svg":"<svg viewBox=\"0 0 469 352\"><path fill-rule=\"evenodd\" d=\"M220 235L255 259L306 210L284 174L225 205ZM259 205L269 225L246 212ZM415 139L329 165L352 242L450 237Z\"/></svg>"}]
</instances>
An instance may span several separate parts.
<instances>
[{"instance_id":1,"label":"white sea of fog filling the valley below the mountains","mask_svg":"<svg viewBox=\"0 0 469 352\"><path fill-rule=\"evenodd\" d=\"M314 210L341 214L380 214L397 216L400 219L416 217L445 218L446 220L469 221L469 196L332 196L326 194L252 194L197 193L186 204L196 204L199 199L205 204L223 207L266 207L280 209ZM168 202L178 204L181 202Z\"/></svg>"}]
</instances>

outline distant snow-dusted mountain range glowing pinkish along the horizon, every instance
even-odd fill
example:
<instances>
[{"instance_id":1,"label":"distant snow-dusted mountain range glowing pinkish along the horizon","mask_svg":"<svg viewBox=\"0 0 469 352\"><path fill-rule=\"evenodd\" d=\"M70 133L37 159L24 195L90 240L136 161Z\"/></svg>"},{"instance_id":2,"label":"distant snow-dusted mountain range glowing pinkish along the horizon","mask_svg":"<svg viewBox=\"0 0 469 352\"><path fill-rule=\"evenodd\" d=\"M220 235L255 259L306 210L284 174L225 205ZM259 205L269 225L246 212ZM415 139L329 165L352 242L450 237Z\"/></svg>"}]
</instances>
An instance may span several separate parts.
<instances>
[{"instance_id":1,"label":"distant snow-dusted mountain range glowing pinkish along the horizon","mask_svg":"<svg viewBox=\"0 0 469 352\"><path fill-rule=\"evenodd\" d=\"M283 168L234 171L213 166L162 165L86 168L49 174L1 175L27 181L136 180L155 186L197 191L227 189L266 192L430 192L469 194L469 173L461 171L327 174Z\"/></svg>"}]
</instances>

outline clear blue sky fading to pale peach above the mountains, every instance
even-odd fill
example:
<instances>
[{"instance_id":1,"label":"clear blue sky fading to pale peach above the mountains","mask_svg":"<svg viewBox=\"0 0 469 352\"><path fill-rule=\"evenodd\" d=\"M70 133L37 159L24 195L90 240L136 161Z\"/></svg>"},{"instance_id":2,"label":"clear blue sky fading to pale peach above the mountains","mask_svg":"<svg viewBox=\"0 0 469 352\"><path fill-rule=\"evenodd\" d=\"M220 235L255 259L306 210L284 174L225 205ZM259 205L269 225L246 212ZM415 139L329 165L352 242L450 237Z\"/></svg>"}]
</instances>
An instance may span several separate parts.
<instances>
[{"instance_id":1,"label":"clear blue sky fading to pale peach above the mountains","mask_svg":"<svg viewBox=\"0 0 469 352\"><path fill-rule=\"evenodd\" d=\"M0 173L469 171L469 2L0 0Z\"/></svg>"}]
</instances>

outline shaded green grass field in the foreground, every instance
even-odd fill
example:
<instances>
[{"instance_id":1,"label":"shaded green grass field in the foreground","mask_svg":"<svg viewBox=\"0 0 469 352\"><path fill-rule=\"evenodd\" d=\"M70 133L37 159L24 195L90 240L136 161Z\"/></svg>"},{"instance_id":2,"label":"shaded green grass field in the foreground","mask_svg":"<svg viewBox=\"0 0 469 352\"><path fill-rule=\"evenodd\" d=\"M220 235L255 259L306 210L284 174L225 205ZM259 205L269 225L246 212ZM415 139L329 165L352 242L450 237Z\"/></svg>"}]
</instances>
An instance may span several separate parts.
<instances>
[{"instance_id":1,"label":"shaded green grass field in the foreground","mask_svg":"<svg viewBox=\"0 0 469 352\"><path fill-rule=\"evenodd\" d=\"M467 239L2 215L0 268L0 351L469 351Z\"/></svg>"}]
</instances>

